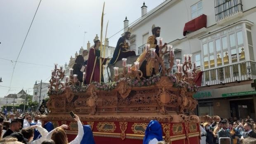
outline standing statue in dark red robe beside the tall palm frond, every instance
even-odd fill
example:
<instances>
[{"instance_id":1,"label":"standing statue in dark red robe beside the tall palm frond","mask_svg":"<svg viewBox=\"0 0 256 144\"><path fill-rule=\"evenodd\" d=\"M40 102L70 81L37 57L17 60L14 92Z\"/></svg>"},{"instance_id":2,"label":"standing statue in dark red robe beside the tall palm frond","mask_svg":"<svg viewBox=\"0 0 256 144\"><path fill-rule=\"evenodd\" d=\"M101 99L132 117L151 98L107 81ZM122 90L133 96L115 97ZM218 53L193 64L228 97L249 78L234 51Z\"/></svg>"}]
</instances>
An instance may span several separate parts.
<instances>
[{"instance_id":1,"label":"standing statue in dark red robe beside the tall palm frond","mask_svg":"<svg viewBox=\"0 0 256 144\"><path fill-rule=\"evenodd\" d=\"M95 40L94 47L89 51L89 57L87 61L85 83L90 84L92 82L100 82L100 60L102 65L106 64L107 59L100 57L100 40ZM102 74L102 73L101 73ZM102 81L103 75L101 76Z\"/></svg>"}]
</instances>

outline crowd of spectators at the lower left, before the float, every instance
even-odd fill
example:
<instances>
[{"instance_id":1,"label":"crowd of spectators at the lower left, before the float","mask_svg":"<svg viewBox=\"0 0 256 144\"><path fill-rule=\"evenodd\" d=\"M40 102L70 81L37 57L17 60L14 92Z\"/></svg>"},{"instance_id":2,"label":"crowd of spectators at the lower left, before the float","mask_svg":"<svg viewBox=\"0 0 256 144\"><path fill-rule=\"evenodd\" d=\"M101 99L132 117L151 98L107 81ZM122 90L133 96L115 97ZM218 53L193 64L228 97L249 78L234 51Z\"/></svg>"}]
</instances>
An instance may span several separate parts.
<instances>
[{"instance_id":1,"label":"crowd of spectators at the lower left, before the float","mask_svg":"<svg viewBox=\"0 0 256 144\"><path fill-rule=\"evenodd\" d=\"M77 115L73 119L78 124L78 135L68 142L65 132L68 125L54 129L51 122L42 125L32 113L8 116L0 114L0 144L85 144L85 139L90 140L89 144L95 144L88 125L82 125Z\"/></svg>"}]
</instances>

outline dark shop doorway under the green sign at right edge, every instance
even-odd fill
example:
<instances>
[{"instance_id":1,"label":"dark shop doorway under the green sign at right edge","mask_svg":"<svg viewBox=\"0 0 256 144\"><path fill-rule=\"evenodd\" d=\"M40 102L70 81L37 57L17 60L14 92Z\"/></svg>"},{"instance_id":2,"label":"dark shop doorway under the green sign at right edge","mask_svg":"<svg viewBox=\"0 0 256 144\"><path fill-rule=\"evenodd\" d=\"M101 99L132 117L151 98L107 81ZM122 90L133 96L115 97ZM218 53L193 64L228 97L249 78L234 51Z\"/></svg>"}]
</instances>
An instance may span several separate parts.
<instances>
[{"instance_id":1,"label":"dark shop doorway under the green sign at right edge","mask_svg":"<svg viewBox=\"0 0 256 144\"><path fill-rule=\"evenodd\" d=\"M232 118L243 119L247 118L247 116L255 118L253 99L231 100L230 112Z\"/></svg>"}]
</instances>

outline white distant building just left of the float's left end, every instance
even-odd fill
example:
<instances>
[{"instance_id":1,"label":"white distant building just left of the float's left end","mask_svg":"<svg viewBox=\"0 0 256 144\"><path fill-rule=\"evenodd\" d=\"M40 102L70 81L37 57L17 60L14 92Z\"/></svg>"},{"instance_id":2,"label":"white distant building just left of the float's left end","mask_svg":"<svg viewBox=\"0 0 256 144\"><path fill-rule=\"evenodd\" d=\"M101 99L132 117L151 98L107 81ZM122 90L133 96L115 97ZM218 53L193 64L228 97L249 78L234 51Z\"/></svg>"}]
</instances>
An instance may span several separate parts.
<instances>
[{"instance_id":1,"label":"white distant building just left of the float's left end","mask_svg":"<svg viewBox=\"0 0 256 144\"><path fill-rule=\"evenodd\" d=\"M45 99L48 95L48 87L49 87L50 83L42 83L42 90L41 90L41 98L40 100ZM40 86L41 83L35 83L34 87L33 87L33 102L38 102L39 103L39 97L40 97Z\"/></svg>"}]
</instances>

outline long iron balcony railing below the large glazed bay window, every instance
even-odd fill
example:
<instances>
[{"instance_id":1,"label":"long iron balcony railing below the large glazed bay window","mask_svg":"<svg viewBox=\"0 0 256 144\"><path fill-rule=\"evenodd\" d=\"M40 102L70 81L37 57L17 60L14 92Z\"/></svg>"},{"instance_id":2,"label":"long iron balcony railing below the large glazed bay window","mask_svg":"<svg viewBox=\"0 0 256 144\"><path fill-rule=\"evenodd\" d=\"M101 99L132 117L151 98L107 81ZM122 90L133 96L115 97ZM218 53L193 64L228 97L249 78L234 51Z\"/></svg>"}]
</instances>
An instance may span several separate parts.
<instances>
[{"instance_id":1,"label":"long iron balcony railing below the large glazed bay window","mask_svg":"<svg viewBox=\"0 0 256 144\"><path fill-rule=\"evenodd\" d=\"M256 62L246 61L203 71L201 86L219 85L256 79Z\"/></svg>"}]
</instances>

